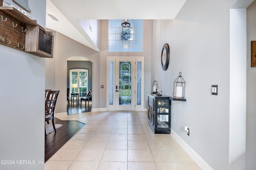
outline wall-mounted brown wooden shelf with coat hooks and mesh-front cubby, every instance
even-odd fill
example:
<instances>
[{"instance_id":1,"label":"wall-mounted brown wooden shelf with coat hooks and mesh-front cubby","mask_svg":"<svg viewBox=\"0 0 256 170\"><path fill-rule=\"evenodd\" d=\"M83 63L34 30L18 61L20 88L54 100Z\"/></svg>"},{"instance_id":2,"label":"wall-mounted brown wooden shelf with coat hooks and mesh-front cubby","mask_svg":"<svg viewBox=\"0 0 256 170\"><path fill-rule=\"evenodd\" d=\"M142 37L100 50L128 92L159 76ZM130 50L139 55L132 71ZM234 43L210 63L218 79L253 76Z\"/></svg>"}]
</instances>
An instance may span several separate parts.
<instances>
[{"instance_id":1,"label":"wall-mounted brown wooden shelf with coat hooks and mesh-front cubby","mask_svg":"<svg viewBox=\"0 0 256 170\"><path fill-rule=\"evenodd\" d=\"M2 0L0 0L2 5ZM36 55L53 57L54 35L14 7L0 6L0 44Z\"/></svg>"}]
</instances>

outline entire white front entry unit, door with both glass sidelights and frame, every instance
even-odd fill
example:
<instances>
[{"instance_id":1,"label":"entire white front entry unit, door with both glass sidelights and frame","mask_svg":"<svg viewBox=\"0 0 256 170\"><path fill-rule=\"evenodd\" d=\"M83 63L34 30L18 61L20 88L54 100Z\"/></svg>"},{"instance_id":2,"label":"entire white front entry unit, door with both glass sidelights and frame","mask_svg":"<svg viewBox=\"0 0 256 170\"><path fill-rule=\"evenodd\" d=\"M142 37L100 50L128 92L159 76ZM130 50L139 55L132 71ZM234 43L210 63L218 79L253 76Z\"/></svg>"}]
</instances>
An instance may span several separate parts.
<instances>
[{"instance_id":1,"label":"entire white front entry unit, door with both glass sidelights and frame","mask_svg":"<svg viewBox=\"0 0 256 170\"><path fill-rule=\"evenodd\" d=\"M144 110L144 57L108 57L107 110Z\"/></svg>"}]
</instances>

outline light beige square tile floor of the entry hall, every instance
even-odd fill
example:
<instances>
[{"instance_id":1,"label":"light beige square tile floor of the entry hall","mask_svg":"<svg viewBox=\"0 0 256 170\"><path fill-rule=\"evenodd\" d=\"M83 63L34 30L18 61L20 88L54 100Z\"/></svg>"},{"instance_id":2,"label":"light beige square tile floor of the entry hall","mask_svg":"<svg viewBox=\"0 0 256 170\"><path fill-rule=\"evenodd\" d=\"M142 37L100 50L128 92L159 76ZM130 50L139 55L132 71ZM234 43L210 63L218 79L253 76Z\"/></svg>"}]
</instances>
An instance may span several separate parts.
<instances>
[{"instance_id":1,"label":"light beige square tile floor of the entry hall","mask_svg":"<svg viewBox=\"0 0 256 170\"><path fill-rule=\"evenodd\" d=\"M86 125L45 163L45 170L201 170L172 135L153 133L146 112L58 118Z\"/></svg>"}]
</instances>

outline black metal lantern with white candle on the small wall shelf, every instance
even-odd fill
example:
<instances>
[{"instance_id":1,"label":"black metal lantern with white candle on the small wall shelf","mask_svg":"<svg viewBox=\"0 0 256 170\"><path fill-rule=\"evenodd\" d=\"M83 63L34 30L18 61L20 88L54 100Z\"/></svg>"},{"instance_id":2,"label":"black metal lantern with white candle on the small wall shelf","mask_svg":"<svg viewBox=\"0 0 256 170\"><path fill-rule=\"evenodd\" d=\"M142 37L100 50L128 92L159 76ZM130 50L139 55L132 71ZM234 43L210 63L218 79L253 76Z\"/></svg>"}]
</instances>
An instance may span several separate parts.
<instances>
[{"instance_id":1,"label":"black metal lantern with white candle on the small wall shelf","mask_svg":"<svg viewBox=\"0 0 256 170\"><path fill-rule=\"evenodd\" d=\"M185 81L181 76L181 72L179 76L176 78L173 84L173 97L175 98L184 98L185 95Z\"/></svg>"}]
</instances>

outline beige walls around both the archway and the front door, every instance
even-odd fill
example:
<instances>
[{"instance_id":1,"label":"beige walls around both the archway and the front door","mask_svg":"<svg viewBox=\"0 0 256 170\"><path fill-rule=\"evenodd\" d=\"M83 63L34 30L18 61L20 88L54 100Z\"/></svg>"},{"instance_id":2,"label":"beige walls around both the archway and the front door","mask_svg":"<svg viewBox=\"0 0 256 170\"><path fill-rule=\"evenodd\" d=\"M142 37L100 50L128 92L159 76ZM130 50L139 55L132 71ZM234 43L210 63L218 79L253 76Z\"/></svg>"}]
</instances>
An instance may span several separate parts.
<instances>
[{"instance_id":1,"label":"beige walls around both the archway and the front door","mask_svg":"<svg viewBox=\"0 0 256 170\"><path fill-rule=\"evenodd\" d=\"M100 21L100 52L94 51L58 32L54 32L54 58L46 59L46 85L49 89L60 90L56 113L66 114L66 79L67 59L78 56L92 61L92 110L106 109L107 94L107 56L144 56L144 108L147 108L147 94L151 88L151 39L152 20L144 20L143 52L135 53L110 53L108 52L108 20ZM55 73L55 74L54 74ZM55 82L50 82L55 78ZM55 87L52 87L55 85ZM104 85L105 88L100 88Z\"/></svg>"}]
</instances>

